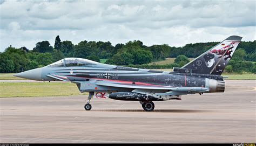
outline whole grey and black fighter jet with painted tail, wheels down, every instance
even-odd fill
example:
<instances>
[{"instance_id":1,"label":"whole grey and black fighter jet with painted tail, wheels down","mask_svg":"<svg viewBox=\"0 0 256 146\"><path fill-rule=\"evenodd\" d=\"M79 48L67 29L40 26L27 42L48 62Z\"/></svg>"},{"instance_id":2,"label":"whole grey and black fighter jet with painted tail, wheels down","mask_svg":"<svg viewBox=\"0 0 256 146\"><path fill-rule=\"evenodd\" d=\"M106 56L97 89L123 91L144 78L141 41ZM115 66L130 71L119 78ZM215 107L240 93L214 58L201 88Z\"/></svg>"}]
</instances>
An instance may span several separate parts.
<instances>
[{"instance_id":1,"label":"whole grey and black fighter jet with painted tail, wheels down","mask_svg":"<svg viewBox=\"0 0 256 146\"><path fill-rule=\"evenodd\" d=\"M146 112L151 112L154 109L153 101L181 100L181 95L186 94L224 92L225 82L221 73L230 58L224 59L224 55L219 58L218 54L212 55L211 52L227 44L225 50L230 51L229 55L232 56L240 41L241 37L230 36L185 66L174 67L172 72L107 65L83 58L65 58L15 76L39 81L73 82L81 93L89 92L85 110L92 108L90 100L94 96L139 101Z\"/></svg>"}]
</instances>

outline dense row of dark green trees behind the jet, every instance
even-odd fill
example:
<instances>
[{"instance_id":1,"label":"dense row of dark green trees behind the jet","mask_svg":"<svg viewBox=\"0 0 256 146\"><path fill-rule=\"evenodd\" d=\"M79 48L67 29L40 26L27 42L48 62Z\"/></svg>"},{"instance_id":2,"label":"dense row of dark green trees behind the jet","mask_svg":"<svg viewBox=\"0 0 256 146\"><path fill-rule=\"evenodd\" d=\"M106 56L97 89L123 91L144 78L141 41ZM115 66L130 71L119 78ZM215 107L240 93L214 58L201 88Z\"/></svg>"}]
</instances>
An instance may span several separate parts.
<instances>
[{"instance_id":1,"label":"dense row of dark green trees behind the jet","mask_svg":"<svg viewBox=\"0 0 256 146\"><path fill-rule=\"evenodd\" d=\"M43 67L68 57L86 58L100 62L100 59L107 59L106 64L124 65L140 68L172 68L185 65L187 58L196 58L209 50L219 42L186 44L183 47L171 47L167 44L145 46L142 41L133 40L126 44L112 45L109 41L80 41L74 45L72 41L60 40L57 36L54 46L49 41L38 42L34 48L28 49L8 47L0 52L0 72L18 73L28 69ZM255 73L256 41L242 41L238 50L233 55L230 66L226 69L229 72ZM173 64L149 65L152 61L165 60L165 58L176 58ZM238 65L243 67L238 67ZM244 66L246 64L246 67ZM239 69L237 69L239 68Z\"/></svg>"}]
</instances>

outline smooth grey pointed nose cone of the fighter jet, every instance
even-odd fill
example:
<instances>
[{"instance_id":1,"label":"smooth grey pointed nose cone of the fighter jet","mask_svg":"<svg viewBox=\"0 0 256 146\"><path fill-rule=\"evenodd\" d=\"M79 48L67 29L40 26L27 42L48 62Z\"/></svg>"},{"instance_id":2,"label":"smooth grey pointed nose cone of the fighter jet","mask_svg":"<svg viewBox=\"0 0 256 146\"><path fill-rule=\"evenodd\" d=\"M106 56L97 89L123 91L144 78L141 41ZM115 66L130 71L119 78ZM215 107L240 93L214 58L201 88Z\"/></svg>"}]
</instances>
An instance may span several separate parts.
<instances>
[{"instance_id":1,"label":"smooth grey pointed nose cone of the fighter jet","mask_svg":"<svg viewBox=\"0 0 256 146\"><path fill-rule=\"evenodd\" d=\"M42 80L42 68L36 68L36 69L31 69L29 71L25 71L22 73L17 73L14 75L15 77L19 78L25 78L29 80Z\"/></svg>"}]
</instances>

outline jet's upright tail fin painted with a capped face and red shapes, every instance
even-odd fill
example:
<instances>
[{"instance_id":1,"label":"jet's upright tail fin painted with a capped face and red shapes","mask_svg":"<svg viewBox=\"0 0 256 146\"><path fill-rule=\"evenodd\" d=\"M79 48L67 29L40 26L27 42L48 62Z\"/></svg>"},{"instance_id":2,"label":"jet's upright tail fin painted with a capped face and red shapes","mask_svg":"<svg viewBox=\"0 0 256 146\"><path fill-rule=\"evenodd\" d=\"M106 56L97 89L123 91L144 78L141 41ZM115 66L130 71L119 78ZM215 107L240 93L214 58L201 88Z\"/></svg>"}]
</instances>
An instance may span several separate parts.
<instances>
[{"instance_id":1,"label":"jet's upright tail fin painted with a capped face and red shapes","mask_svg":"<svg viewBox=\"0 0 256 146\"><path fill-rule=\"evenodd\" d=\"M242 37L230 36L181 68L193 73L221 75Z\"/></svg>"}]
</instances>

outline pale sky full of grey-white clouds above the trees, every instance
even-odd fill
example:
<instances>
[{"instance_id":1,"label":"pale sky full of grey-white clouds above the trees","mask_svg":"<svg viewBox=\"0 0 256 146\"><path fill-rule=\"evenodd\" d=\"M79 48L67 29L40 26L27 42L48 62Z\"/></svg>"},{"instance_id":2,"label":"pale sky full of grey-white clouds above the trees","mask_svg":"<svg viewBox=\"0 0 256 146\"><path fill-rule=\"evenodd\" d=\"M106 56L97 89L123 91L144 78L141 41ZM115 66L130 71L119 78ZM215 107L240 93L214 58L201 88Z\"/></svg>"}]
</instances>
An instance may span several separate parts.
<instances>
[{"instance_id":1,"label":"pale sky full of grey-white clouds above the trees","mask_svg":"<svg viewBox=\"0 0 256 146\"><path fill-rule=\"evenodd\" d=\"M113 45L140 40L147 46L256 39L256 1L3 1L0 52L10 45L35 47L55 37Z\"/></svg>"}]
</instances>

